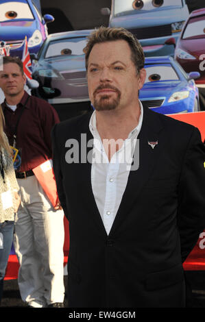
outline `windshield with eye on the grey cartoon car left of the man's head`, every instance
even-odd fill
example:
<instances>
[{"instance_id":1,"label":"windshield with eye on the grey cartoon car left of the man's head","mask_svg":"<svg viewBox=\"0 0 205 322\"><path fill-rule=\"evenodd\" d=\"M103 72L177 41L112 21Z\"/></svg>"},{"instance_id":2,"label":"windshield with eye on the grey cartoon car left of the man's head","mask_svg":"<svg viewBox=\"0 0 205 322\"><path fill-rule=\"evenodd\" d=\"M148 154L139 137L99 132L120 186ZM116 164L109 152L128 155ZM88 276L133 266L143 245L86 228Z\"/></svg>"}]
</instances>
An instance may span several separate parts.
<instances>
[{"instance_id":1,"label":"windshield with eye on the grey cartoon car left of the man's head","mask_svg":"<svg viewBox=\"0 0 205 322\"><path fill-rule=\"evenodd\" d=\"M58 55L83 55L86 47L85 38L71 38L50 42L45 58L52 58Z\"/></svg>"}]
</instances>

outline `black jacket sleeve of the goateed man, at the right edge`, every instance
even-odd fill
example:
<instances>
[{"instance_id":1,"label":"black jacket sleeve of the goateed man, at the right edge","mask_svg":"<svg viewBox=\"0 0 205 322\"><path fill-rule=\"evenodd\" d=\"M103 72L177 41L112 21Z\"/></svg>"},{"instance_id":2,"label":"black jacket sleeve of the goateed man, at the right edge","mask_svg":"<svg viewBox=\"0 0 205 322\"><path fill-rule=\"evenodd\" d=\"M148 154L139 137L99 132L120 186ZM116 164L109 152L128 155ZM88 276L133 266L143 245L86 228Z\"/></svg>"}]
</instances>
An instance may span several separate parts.
<instances>
[{"instance_id":1,"label":"black jacket sleeve of the goateed man, at the right edge","mask_svg":"<svg viewBox=\"0 0 205 322\"><path fill-rule=\"evenodd\" d=\"M182 262L186 260L205 227L205 146L193 129L186 149L179 184L178 228Z\"/></svg>"}]
</instances>

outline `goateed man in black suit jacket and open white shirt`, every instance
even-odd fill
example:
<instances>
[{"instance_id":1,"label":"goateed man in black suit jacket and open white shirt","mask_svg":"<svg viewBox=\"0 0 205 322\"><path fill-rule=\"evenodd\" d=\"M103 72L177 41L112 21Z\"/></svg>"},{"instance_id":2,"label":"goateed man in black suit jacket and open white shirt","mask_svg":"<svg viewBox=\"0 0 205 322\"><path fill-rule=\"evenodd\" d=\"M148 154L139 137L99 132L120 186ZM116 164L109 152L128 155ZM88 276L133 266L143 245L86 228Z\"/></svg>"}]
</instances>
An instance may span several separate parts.
<instances>
[{"instance_id":1,"label":"goateed man in black suit jacket and open white shirt","mask_svg":"<svg viewBox=\"0 0 205 322\"><path fill-rule=\"evenodd\" d=\"M95 112L52 132L69 307L184 307L182 262L205 226L200 132L138 100L144 55L130 32L100 27L84 52Z\"/></svg>"}]
</instances>

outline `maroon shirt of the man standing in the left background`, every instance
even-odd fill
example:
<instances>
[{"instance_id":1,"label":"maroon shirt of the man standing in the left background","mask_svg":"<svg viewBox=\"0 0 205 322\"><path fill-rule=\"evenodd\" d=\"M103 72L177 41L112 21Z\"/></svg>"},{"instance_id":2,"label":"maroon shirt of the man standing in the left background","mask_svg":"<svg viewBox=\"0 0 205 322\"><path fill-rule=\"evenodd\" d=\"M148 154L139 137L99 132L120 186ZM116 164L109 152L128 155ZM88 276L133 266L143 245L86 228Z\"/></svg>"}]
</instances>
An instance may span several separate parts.
<instances>
[{"instance_id":1,"label":"maroon shirt of the man standing in the left background","mask_svg":"<svg viewBox=\"0 0 205 322\"><path fill-rule=\"evenodd\" d=\"M56 110L47 101L29 96L27 92L14 112L4 101L2 108L5 116L5 134L10 145L13 145L14 130L24 105L25 109L16 132L16 148L21 149L20 172L34 169L52 157L51 129L60 122Z\"/></svg>"}]
</instances>

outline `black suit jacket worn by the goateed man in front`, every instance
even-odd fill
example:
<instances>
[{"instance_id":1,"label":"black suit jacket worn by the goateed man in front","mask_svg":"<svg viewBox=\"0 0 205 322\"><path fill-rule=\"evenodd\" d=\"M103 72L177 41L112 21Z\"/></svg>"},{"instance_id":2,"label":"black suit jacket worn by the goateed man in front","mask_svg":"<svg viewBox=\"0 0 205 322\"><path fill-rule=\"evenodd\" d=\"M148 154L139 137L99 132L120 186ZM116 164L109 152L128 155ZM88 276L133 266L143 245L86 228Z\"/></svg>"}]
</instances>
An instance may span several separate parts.
<instances>
[{"instance_id":1,"label":"black suit jacket worn by the goateed man in front","mask_svg":"<svg viewBox=\"0 0 205 322\"><path fill-rule=\"evenodd\" d=\"M144 106L139 168L130 171L107 236L93 197L91 163L68 164L65 158L73 148L66 147L68 139L80 143L82 133L93 138L90 118L64 121L52 132L58 195L69 219L69 306L183 307L182 262L205 227L200 132ZM158 145L152 149L148 141Z\"/></svg>"}]
</instances>

